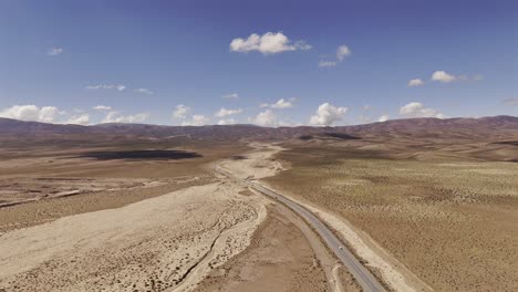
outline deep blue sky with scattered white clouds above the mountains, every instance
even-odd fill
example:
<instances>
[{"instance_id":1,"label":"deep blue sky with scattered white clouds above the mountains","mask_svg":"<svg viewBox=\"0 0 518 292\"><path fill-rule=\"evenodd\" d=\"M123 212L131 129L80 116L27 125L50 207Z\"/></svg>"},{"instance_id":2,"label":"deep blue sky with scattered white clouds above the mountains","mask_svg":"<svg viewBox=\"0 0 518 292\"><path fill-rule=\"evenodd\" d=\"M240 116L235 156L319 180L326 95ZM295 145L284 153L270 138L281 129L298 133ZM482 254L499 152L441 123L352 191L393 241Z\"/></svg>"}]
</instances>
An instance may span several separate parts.
<instances>
[{"instance_id":1,"label":"deep blue sky with scattered white clouds above the mountains","mask_svg":"<svg viewBox=\"0 0 518 292\"><path fill-rule=\"evenodd\" d=\"M280 126L518 115L517 45L517 1L0 0L0 116Z\"/></svg>"}]
</instances>

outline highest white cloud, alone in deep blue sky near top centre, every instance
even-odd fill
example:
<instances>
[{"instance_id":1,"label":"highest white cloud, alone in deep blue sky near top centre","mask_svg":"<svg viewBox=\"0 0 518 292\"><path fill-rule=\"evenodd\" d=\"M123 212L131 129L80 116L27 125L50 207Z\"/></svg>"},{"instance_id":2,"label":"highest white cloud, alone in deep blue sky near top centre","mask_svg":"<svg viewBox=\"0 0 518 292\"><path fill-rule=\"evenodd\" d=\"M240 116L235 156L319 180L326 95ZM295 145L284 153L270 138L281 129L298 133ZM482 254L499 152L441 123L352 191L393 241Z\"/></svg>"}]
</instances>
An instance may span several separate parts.
<instances>
[{"instance_id":1,"label":"highest white cloud, alone in deep blue sky near top centre","mask_svg":"<svg viewBox=\"0 0 518 292\"><path fill-rule=\"evenodd\" d=\"M310 50L303 41L292 42L282 32L267 32L262 35L252 33L247 39L236 38L230 42L231 52L247 53L258 51L262 54L276 54L287 51Z\"/></svg>"}]
</instances>

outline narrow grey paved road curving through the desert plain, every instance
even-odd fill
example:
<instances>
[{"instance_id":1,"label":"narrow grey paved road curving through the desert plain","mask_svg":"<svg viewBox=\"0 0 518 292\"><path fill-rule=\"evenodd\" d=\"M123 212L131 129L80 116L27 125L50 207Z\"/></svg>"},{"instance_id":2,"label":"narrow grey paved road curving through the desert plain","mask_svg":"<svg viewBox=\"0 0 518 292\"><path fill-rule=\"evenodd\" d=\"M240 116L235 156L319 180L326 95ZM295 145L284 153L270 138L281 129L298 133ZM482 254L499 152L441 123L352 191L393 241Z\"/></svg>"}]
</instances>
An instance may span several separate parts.
<instances>
[{"instance_id":1,"label":"narrow grey paved road curving through the desert plain","mask_svg":"<svg viewBox=\"0 0 518 292\"><path fill-rule=\"evenodd\" d=\"M249 179L239 179L236 176L234 176L232 173L230 173L227 169L224 169L220 166L216 167L216 170L235 181L247 185L256 189L257 191L284 204L294 212L297 212L300 217L305 219L305 221L317 231L317 233L319 233L322 237L324 242L334 252L334 254L336 254L336 257L343 263L343 265L345 265L349 269L349 272L362 286L363 291L386 291L383 288L383 285L377 281L377 279L371 273L371 271L363 267L363 264L360 263L360 261L351 253L351 251L349 251L349 249L343 244L343 242L339 238L336 238L333 234L333 232L311 211L300 206L299 204L288 199L283 195L260 185L257 181L252 181Z\"/></svg>"}]
</instances>

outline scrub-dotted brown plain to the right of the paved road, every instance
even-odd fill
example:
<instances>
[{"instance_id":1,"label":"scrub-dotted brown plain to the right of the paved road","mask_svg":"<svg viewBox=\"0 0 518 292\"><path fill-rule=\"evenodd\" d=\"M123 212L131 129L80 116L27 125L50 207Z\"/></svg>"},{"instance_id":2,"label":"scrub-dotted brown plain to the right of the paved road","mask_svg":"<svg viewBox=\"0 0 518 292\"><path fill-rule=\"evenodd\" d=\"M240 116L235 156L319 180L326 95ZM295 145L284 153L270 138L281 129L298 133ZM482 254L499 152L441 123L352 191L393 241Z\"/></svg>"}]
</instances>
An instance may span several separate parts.
<instances>
[{"instance_id":1,"label":"scrub-dotted brown plain to the right of the paved road","mask_svg":"<svg viewBox=\"0 0 518 292\"><path fill-rule=\"evenodd\" d=\"M518 164L294 147L276 188L349 219L437 291L518 288Z\"/></svg>"}]
</instances>

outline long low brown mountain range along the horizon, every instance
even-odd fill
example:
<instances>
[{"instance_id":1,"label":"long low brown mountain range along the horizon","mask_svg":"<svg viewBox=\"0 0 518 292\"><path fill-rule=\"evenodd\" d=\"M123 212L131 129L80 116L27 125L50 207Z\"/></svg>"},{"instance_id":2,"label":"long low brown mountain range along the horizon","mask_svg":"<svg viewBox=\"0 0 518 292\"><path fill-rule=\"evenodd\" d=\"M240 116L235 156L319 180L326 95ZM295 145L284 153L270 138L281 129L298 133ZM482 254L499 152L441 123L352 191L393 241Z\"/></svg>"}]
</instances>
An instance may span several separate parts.
<instances>
[{"instance_id":1,"label":"long low brown mountain range along the horizon","mask_svg":"<svg viewBox=\"0 0 518 292\"><path fill-rule=\"evenodd\" d=\"M331 134L330 134L331 133ZM84 135L117 135L128 137L172 137L188 135L195 138L288 139L303 135L330 138L360 137L500 137L518 134L518 117L491 116L480 118L408 118L354 126L338 127L260 127L256 125L163 126L145 124L99 124L92 126L45 124L0 118L0 136L65 137Z\"/></svg>"}]
</instances>

